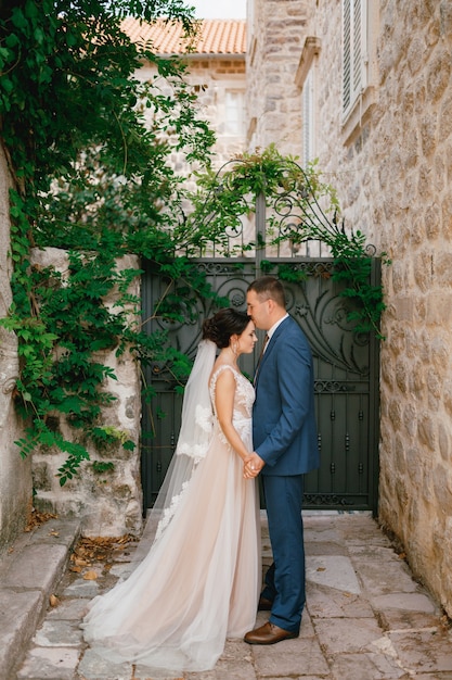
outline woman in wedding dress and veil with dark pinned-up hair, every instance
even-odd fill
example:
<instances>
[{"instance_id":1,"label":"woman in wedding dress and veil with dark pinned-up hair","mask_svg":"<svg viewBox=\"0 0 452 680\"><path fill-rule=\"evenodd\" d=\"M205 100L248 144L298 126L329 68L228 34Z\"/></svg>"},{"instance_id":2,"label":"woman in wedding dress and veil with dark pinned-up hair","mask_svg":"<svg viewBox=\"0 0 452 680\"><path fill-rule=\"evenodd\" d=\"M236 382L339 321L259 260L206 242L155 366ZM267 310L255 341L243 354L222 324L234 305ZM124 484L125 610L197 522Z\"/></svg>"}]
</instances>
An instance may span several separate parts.
<instances>
[{"instance_id":1,"label":"woman in wedding dress and veil with dark pinned-up hair","mask_svg":"<svg viewBox=\"0 0 452 680\"><path fill-rule=\"evenodd\" d=\"M154 542L127 580L90 603L82 624L86 641L108 660L154 672L208 670L225 639L255 624L259 506L256 480L243 471L255 394L237 357L256 341L251 318L234 308L203 324L178 445L152 511Z\"/></svg>"}]
</instances>

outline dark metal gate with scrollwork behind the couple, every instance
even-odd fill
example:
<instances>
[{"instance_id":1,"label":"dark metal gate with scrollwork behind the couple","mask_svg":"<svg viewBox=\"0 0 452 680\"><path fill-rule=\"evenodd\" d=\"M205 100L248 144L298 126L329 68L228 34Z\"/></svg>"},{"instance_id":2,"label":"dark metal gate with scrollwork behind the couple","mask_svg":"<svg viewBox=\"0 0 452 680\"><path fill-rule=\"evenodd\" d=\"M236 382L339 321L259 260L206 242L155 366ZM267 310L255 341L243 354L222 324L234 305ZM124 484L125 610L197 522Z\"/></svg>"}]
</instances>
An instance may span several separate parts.
<instances>
[{"instance_id":1,"label":"dark metal gate with scrollwork behind the couple","mask_svg":"<svg viewBox=\"0 0 452 680\"><path fill-rule=\"evenodd\" d=\"M286 211L287 212L287 211ZM258 197L256 231L266 231L266 199ZM259 242L259 239L257 239ZM206 273L211 287L227 297L230 305L246 310L246 289L261 274L286 264L304 273L301 281L286 282L287 311L306 333L314 357L315 406L321 453L320 469L306 476L305 507L310 509L377 511L378 483L378 339L373 332L357 332L349 322L353 308L350 298L341 297L345 284L334 280L331 257L311 257L309 247L283 257L280 252L269 256L263 247L254 257L201 257L196 265ZM318 254L321 250L318 250ZM164 282L144 264L142 306L144 318L151 318L164 292ZM380 262L372 260L371 284L378 285ZM210 301L198 300L197 319L183 325L166 325L173 347L194 358L201 339L202 322L216 310ZM153 332L156 322L144 328ZM259 331L258 331L259 332ZM263 333L261 333L263 335ZM241 368L253 376L259 355L241 357ZM143 404L142 483L144 509L152 506L176 449L182 398L175 392L173 381L162 375L159 367L145 369L155 396L151 406Z\"/></svg>"}]
</instances>

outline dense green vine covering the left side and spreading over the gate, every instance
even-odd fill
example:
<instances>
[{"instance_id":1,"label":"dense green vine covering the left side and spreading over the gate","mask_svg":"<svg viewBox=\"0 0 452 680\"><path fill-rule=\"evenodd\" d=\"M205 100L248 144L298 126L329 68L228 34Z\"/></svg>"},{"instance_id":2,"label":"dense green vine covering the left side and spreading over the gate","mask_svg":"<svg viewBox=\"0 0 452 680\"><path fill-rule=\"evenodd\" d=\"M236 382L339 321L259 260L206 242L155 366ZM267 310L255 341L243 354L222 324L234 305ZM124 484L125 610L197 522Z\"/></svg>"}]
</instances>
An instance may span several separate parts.
<instances>
[{"instance_id":1,"label":"dense green vine covering the left side and spreading over the gate","mask_svg":"<svg viewBox=\"0 0 452 680\"><path fill-rule=\"evenodd\" d=\"M306 211L317 200L326 200L332 215L337 210L333 189L314 166L301 171L273 147L245 154L230 172L215 175L214 135L198 116L185 65L158 58L152 46L131 43L121 30L126 14L182 21L196 37L196 23L178 0L24 0L0 14L0 118L14 184L13 304L0 323L18 337L15 402L26 424L20 452L26 456L37 446L66 452L62 486L89 458L88 441L133 445L127 433L102 423L102 410L114 399L105 381L116 379L99 358L102 352L169 362L181 383L190 372L190 362L166 344L164 332L141 331L140 300L128 292L141 270L119 272L117 261L127 253L148 260L167 284L155 314L183 322L195 313L199 295L225 303L188 255L211 241L225 248L224 228L254 210L257 194L263 191L270 201L281 189L296 187ZM151 83L134 75L143 59L156 68ZM172 96L159 89L162 80ZM194 196L171 169L175 151L201 168ZM185 214L189 198L193 210ZM315 221L297 225L272 237L270 222L269 238L330 239L340 265L337 276L351 277L349 294L361 297L376 327L383 297L380 289L366 288L363 235L347 234L333 217L327 229ZM68 252L65 276L31 266L30 248L48 245ZM255 247L260 244L248 244ZM112 291L114 310L105 302ZM144 393L151 399L152 386ZM70 424L70 440L60 418Z\"/></svg>"}]
</instances>

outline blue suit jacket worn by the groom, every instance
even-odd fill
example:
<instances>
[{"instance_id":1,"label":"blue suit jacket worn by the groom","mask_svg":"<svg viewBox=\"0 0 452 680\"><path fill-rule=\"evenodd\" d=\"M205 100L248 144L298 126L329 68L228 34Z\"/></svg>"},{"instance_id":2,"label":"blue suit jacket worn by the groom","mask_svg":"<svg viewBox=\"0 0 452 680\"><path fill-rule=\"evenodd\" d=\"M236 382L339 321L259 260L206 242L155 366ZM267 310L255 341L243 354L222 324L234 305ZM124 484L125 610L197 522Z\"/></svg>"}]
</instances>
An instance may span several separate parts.
<instances>
[{"instance_id":1,"label":"blue suit jacket worn by the groom","mask_svg":"<svg viewBox=\"0 0 452 680\"><path fill-rule=\"evenodd\" d=\"M262 475L301 475L319 467L312 355L290 316L267 345L255 389L253 440L266 462Z\"/></svg>"}]
</instances>

